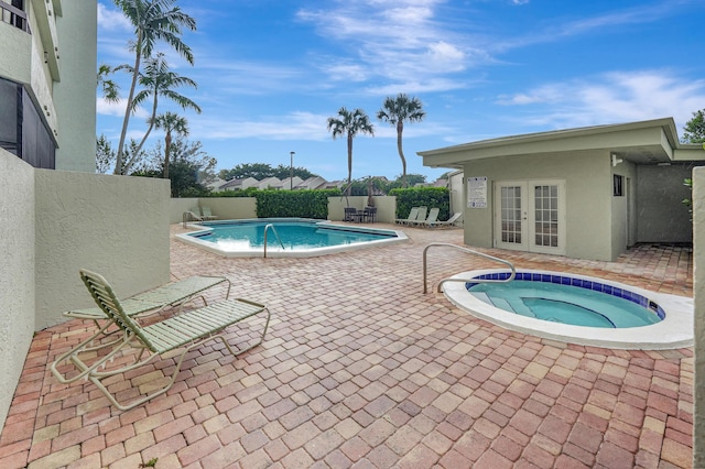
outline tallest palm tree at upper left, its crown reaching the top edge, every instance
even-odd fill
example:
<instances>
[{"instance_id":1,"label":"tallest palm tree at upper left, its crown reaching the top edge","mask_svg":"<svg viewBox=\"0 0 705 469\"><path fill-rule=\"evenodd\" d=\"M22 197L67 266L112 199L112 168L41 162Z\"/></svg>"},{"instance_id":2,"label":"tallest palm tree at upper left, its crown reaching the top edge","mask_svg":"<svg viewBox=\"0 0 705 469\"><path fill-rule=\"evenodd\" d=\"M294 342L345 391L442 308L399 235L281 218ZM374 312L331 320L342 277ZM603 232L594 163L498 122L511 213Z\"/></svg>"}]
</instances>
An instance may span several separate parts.
<instances>
[{"instance_id":1,"label":"tallest palm tree at upper left, its crown reaching the top edge","mask_svg":"<svg viewBox=\"0 0 705 469\"><path fill-rule=\"evenodd\" d=\"M132 83L128 95L122 131L120 132L120 143L118 144L118 155L115 166L116 174L122 174L122 156L124 139L128 133L130 114L134 110L132 99L134 89L140 76L140 63L142 58L150 57L156 41L164 41L172 46L182 57L193 65L194 56L191 48L181 40L182 28L192 31L196 29L196 20L181 11L178 7L173 7L175 0L115 0L130 23L134 26L134 42L131 50L134 51L134 65L131 67Z\"/></svg>"}]
</instances>

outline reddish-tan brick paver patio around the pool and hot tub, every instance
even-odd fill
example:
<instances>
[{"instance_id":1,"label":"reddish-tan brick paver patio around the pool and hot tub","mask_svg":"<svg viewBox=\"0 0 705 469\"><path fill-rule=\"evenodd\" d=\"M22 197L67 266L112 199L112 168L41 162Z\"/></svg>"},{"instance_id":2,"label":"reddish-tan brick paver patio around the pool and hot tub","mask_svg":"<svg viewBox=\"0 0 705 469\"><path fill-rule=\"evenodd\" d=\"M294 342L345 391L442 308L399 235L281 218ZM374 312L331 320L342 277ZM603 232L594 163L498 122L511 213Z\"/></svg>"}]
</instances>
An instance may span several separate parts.
<instances>
[{"instance_id":1,"label":"reddish-tan brick paver patio around the pool and hot tub","mask_svg":"<svg viewBox=\"0 0 705 469\"><path fill-rule=\"evenodd\" d=\"M48 371L93 324L40 331L0 436L0 467L691 466L692 349L582 347L475 319L422 293L423 248L462 244L462 230L404 231L405 244L311 259L223 259L172 241L174 275L226 275L235 296L270 307L262 346L234 360L209 342L187 356L167 394L119 412L91 383L62 385ZM641 247L614 263L482 252L692 295L687 248ZM429 277L487 266L437 249ZM130 395L171 366L158 361L111 388Z\"/></svg>"}]
</instances>

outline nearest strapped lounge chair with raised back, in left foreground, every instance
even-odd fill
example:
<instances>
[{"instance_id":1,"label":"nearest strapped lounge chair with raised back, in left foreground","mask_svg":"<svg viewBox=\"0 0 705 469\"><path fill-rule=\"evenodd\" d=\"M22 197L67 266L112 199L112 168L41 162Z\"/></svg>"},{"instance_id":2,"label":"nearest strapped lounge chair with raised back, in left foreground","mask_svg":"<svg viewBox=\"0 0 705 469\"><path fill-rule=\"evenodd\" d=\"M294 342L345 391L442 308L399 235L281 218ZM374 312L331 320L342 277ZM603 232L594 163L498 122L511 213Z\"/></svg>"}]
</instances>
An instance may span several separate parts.
<instances>
[{"instance_id":1,"label":"nearest strapped lounge chair with raised back, in left foreground","mask_svg":"<svg viewBox=\"0 0 705 469\"><path fill-rule=\"evenodd\" d=\"M90 342L87 339L77 349L62 355L52 363L51 369L58 381L65 382L63 381L63 373L57 371L57 366L68 359L80 370L82 375L86 375L106 395L108 401L121 411L133 408L169 391L176 380L185 355L189 350L200 347L209 340L217 339L226 346L232 356L238 356L260 345L269 327L271 315L267 306L242 298L225 299L142 327L126 313L115 292L101 275L82 270L80 277L100 309L110 318L110 323L104 327L104 330L115 325L119 328L122 339L119 345L110 343L107 346L111 349L105 355L96 353L96 348L88 347ZM259 313L267 313L267 321L259 340L245 349L235 350L224 338L224 330L228 326ZM84 350L84 347L88 348ZM182 352L178 358L174 357L176 364L167 383L156 390L150 389L151 392L147 395L121 404L116 395L108 391L102 383L102 380L140 368L162 353L176 349L182 349ZM86 357L87 361L80 358L83 351L89 351ZM116 362L119 364L111 366L116 357L120 358ZM115 384L116 380L112 379L110 381Z\"/></svg>"}]
</instances>

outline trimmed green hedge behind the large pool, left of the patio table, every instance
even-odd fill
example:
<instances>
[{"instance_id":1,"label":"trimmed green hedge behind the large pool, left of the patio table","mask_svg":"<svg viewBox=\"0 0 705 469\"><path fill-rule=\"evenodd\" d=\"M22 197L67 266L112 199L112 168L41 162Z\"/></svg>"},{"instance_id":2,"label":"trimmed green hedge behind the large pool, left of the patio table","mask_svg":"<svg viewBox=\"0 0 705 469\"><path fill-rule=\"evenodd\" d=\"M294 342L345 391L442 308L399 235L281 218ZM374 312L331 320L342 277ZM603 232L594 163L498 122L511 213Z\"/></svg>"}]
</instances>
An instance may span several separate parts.
<instances>
[{"instance_id":1,"label":"trimmed green hedge behind the large pool, left of the patio table","mask_svg":"<svg viewBox=\"0 0 705 469\"><path fill-rule=\"evenodd\" d=\"M326 190L257 190L259 218L296 217L328 218L328 197L339 196L339 189Z\"/></svg>"}]
</instances>

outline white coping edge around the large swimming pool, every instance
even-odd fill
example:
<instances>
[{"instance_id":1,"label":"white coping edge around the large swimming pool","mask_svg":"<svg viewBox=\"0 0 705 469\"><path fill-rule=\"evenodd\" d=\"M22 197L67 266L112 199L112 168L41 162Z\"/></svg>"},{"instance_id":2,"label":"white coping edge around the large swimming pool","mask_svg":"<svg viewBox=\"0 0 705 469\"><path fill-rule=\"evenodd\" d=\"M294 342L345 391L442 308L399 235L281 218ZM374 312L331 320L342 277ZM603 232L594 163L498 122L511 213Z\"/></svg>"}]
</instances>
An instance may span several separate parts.
<instances>
[{"instance_id":1,"label":"white coping edge around the large swimming pool","mask_svg":"<svg viewBox=\"0 0 705 469\"><path fill-rule=\"evenodd\" d=\"M399 230L390 230L383 228L373 228L367 226L348 226L348 225L336 225L330 220L317 220L313 218L242 218L242 219L232 219L232 220L214 220L214 223L227 223L227 222L276 222L276 221L303 221L303 222L316 222L319 225L327 225L328 227L340 228L348 231L366 231L366 232L393 232L395 237L389 237L388 239L380 239L376 241L366 241L366 242L357 242L352 244L343 244L343 246L334 246L328 248L315 248L315 249L301 249L296 251L282 251L276 244L272 243L271 247L267 249L267 258L314 258L318 255L328 255L336 254L339 252L348 252L348 251L357 251L360 249L370 249L376 247L397 244L400 242L409 241L409 238L403 231ZM175 234L175 238L182 242L187 244L196 246L203 250L208 252L213 252L214 254L221 255L224 258L262 258L264 255L263 249L250 249L250 250L224 250L218 249L214 246L214 243L208 241L203 241L198 238L195 238L193 234L198 233L199 231L207 231L209 227L198 223L188 223L188 228L193 228L194 231L189 231L187 233L178 233Z\"/></svg>"}]
</instances>

